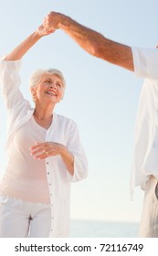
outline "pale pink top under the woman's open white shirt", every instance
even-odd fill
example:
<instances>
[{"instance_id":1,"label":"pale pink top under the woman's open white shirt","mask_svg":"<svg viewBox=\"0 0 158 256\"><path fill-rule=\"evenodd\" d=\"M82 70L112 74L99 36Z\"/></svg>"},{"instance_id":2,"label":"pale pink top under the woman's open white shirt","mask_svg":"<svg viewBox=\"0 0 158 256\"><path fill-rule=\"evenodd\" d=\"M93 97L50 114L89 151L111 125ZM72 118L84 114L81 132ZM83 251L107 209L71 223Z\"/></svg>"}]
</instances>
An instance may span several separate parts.
<instances>
[{"instance_id":1,"label":"pale pink top under the woman's open white shirt","mask_svg":"<svg viewBox=\"0 0 158 256\"><path fill-rule=\"evenodd\" d=\"M45 142L47 129L38 125L34 116L15 133L10 144L10 157L0 183L0 196L15 197L27 202L49 203L45 160L37 161L30 148Z\"/></svg>"}]
</instances>

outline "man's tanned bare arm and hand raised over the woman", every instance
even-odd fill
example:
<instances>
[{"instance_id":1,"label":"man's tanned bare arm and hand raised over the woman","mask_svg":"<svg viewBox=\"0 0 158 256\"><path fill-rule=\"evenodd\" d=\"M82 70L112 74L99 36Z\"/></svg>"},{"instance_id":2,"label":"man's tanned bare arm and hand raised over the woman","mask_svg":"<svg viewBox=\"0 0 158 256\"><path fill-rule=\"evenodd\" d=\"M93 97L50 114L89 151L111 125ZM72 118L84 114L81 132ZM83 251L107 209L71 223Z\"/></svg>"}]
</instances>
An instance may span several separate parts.
<instances>
[{"instance_id":1,"label":"man's tanned bare arm and hand raised over the woman","mask_svg":"<svg viewBox=\"0 0 158 256\"><path fill-rule=\"evenodd\" d=\"M97 31L80 25L72 18L51 12L47 25L60 28L91 55L133 71L132 48L103 37Z\"/></svg>"}]
</instances>

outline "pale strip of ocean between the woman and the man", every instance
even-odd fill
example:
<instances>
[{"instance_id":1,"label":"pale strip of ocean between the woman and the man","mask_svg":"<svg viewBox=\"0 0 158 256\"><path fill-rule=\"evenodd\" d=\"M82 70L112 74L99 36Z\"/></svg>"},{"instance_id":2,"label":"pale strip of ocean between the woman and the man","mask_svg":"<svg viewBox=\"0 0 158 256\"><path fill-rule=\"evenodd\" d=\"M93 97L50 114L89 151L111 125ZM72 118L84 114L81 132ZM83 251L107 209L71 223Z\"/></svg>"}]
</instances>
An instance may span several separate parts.
<instances>
[{"instance_id":1,"label":"pale strip of ocean between the woman and the man","mask_svg":"<svg viewBox=\"0 0 158 256\"><path fill-rule=\"evenodd\" d=\"M70 221L70 238L137 238L139 223L75 220Z\"/></svg>"}]
</instances>

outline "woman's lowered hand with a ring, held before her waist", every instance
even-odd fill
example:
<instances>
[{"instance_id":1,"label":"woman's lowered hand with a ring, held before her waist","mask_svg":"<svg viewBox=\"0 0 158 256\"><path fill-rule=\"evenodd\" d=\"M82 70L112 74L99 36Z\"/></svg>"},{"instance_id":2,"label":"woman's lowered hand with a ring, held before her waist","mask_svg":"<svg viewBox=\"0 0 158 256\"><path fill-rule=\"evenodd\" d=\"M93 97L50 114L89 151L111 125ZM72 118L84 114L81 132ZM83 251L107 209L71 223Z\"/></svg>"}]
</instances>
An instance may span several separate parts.
<instances>
[{"instance_id":1,"label":"woman's lowered hand with a ring, held before her waist","mask_svg":"<svg viewBox=\"0 0 158 256\"><path fill-rule=\"evenodd\" d=\"M60 155L63 147L62 144L46 142L37 143L30 150L35 159L45 159L48 156Z\"/></svg>"}]
</instances>

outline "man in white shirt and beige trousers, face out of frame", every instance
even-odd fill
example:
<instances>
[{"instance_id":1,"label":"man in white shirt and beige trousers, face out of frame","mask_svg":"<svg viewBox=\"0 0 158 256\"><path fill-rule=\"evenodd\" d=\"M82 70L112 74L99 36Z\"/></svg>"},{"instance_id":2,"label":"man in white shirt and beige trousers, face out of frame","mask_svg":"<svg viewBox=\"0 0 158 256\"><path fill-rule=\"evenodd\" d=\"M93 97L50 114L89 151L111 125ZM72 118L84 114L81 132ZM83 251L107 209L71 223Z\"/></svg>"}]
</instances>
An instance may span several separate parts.
<instances>
[{"instance_id":1,"label":"man in white shirt and beige trousers, face out of frame","mask_svg":"<svg viewBox=\"0 0 158 256\"><path fill-rule=\"evenodd\" d=\"M158 237L158 50L123 45L56 12L50 12L43 25L47 31L62 29L91 55L144 78L136 120L131 184L132 192L136 186L145 190L139 236Z\"/></svg>"}]
</instances>

